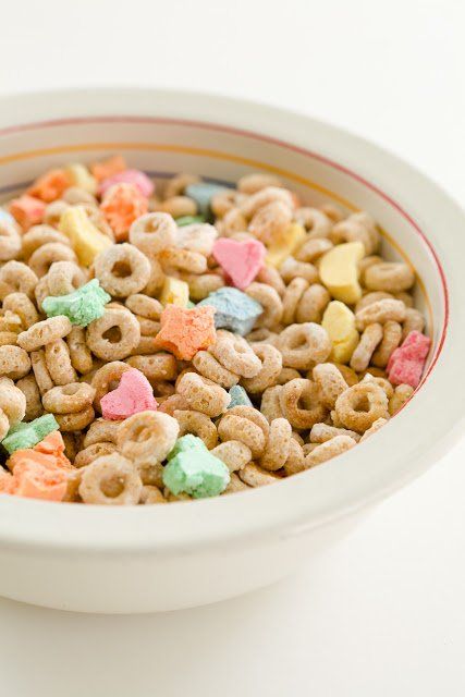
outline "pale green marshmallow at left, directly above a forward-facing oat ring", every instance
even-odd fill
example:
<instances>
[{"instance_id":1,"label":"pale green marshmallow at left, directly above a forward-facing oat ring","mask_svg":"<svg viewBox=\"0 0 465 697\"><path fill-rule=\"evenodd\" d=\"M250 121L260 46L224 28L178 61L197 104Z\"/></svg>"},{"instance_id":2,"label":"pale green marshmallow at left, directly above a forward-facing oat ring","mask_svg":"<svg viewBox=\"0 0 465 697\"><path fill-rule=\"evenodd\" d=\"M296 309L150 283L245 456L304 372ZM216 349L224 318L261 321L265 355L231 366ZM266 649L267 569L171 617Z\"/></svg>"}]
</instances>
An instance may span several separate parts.
<instances>
[{"instance_id":1,"label":"pale green marshmallow at left, directly above a forward-facing oat ring","mask_svg":"<svg viewBox=\"0 0 465 697\"><path fill-rule=\"evenodd\" d=\"M72 325L87 327L102 317L105 305L110 301L111 296L100 288L97 279L93 279L68 295L49 295L42 302L42 308L47 317L65 315Z\"/></svg>"}]
</instances>

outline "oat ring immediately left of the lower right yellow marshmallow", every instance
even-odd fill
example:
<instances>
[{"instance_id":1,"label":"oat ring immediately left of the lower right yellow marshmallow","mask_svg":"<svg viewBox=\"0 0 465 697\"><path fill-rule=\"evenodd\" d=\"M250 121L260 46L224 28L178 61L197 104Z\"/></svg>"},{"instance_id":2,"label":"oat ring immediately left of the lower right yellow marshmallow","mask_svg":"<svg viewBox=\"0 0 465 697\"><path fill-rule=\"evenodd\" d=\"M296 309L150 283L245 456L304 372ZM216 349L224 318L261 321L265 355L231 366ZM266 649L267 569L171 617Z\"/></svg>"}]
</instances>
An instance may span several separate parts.
<instances>
[{"instance_id":1,"label":"oat ring immediately left of the lower right yellow marshmallow","mask_svg":"<svg viewBox=\"0 0 465 697\"><path fill-rule=\"evenodd\" d=\"M314 322L290 325L280 334L278 348L285 368L309 370L316 363L323 363L331 353L327 331Z\"/></svg>"}]
</instances>

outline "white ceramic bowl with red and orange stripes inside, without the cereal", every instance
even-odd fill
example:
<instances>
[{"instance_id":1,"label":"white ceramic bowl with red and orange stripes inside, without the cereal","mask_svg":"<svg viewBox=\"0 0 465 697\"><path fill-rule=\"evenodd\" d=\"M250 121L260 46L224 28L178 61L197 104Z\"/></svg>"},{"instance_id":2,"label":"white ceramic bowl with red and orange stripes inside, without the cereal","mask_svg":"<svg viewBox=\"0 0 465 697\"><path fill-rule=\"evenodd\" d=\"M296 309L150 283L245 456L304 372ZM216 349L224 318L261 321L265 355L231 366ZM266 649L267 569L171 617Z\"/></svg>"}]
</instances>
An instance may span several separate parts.
<instances>
[{"instance_id":1,"label":"white ceramic bowl with red and orange stripes inside, without the cereal","mask_svg":"<svg viewBox=\"0 0 465 697\"><path fill-rule=\"evenodd\" d=\"M339 129L267 106L145 89L0 100L0 193L47 168L123 152L157 176L279 174L308 201L367 209L416 268L433 339L415 398L379 433L264 489L108 509L0 497L0 595L90 612L208 603L287 574L452 444L463 419L465 217L414 169Z\"/></svg>"}]
</instances>

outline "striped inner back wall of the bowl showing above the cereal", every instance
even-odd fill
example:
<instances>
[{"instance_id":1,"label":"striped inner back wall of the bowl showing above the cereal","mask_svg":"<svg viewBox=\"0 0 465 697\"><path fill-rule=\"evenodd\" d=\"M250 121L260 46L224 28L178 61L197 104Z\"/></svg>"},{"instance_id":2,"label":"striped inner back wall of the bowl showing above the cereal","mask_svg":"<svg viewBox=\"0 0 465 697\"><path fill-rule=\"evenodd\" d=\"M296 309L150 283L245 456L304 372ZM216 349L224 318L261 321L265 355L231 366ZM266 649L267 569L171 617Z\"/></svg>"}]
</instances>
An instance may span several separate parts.
<instances>
[{"instance_id":1,"label":"striped inner back wall of the bowl showing above the cereal","mask_svg":"<svg viewBox=\"0 0 465 697\"><path fill-rule=\"evenodd\" d=\"M443 279L435 252L402 205L315 149L215 123L149 117L93 117L12 126L0 132L0 200L45 170L122 152L131 167L163 180L181 171L233 185L252 171L279 175L307 205L334 203L346 212L368 210L382 232L382 254L415 268L416 303L433 340L435 362L444 326Z\"/></svg>"}]
</instances>

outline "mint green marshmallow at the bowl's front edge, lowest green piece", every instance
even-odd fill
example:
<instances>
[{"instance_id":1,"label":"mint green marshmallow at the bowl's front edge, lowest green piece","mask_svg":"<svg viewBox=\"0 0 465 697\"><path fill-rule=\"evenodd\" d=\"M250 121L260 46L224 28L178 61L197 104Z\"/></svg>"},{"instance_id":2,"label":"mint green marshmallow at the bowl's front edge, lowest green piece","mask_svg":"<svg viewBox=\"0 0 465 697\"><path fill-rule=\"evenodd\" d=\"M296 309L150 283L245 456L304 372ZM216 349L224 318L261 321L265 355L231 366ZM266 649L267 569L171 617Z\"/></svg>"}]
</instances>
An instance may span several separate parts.
<instances>
[{"instance_id":1,"label":"mint green marshmallow at the bowl's front edge, lowest green piece","mask_svg":"<svg viewBox=\"0 0 465 697\"><path fill-rule=\"evenodd\" d=\"M230 473L221 460L211 455L200 438L183 436L168 455L163 484L178 496L188 493L194 499L216 497L230 482Z\"/></svg>"}]
</instances>

